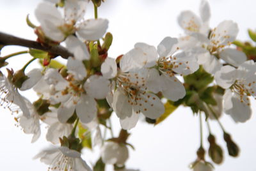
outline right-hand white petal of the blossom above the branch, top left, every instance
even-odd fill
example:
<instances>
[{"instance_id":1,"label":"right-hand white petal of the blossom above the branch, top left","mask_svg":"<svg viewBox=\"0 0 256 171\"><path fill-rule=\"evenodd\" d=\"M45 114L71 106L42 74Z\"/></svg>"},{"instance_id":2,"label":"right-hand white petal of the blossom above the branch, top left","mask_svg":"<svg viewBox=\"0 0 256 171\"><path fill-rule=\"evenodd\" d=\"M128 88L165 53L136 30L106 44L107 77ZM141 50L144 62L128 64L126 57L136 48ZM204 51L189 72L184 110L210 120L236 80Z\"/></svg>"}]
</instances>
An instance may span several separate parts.
<instances>
[{"instance_id":1,"label":"right-hand white petal of the blossom above the branch, top left","mask_svg":"<svg viewBox=\"0 0 256 171\"><path fill-rule=\"evenodd\" d=\"M91 19L84 21L76 33L84 40L99 40L106 33L107 28L108 20Z\"/></svg>"}]
</instances>

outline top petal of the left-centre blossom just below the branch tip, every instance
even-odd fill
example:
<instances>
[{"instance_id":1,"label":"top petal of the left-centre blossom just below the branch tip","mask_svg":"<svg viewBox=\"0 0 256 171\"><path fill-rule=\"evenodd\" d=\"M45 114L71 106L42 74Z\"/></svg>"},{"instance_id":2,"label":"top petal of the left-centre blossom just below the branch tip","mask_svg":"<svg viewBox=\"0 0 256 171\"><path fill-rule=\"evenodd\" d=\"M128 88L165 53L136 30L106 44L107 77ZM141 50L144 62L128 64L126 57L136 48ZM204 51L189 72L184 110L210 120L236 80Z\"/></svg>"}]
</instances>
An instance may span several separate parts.
<instances>
[{"instance_id":1,"label":"top petal of the left-centre blossom just below the branch tip","mask_svg":"<svg viewBox=\"0 0 256 171\"><path fill-rule=\"evenodd\" d=\"M76 60L73 57L68 57L67 69L68 73L72 73L76 80L83 80L87 75L83 62Z\"/></svg>"}]
</instances>

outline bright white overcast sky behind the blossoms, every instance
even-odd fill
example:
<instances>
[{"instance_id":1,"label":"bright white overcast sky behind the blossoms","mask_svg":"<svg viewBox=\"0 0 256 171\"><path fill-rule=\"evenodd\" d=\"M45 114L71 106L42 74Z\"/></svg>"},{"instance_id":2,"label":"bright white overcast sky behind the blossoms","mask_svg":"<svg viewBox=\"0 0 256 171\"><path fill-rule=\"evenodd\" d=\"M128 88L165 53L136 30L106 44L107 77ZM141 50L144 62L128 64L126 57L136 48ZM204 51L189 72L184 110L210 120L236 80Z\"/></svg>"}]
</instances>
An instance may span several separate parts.
<instances>
[{"instance_id":1,"label":"bright white overcast sky behind the blossoms","mask_svg":"<svg viewBox=\"0 0 256 171\"><path fill-rule=\"evenodd\" d=\"M38 0L0 0L0 31L35 40L33 30L26 26L26 15L30 13L31 20L37 24L33 11L39 2ZM210 0L209 2L212 13L211 27L217 26L222 20L234 20L240 29L238 39L248 40L246 30L255 29L255 1ZM99 8L99 17L109 19L108 31L114 36L109 56L125 54L138 41L157 46L164 36L179 36L182 34L182 29L177 24L180 11L192 10L198 13L199 3L200 0L106 0L106 3ZM92 5L86 13L86 19L90 17L93 17ZM1 56L20 49L22 48L4 48ZM22 55L13 57L10 63L13 68L21 68L23 65L20 63L24 64L28 60L28 55ZM252 105L255 113L255 101ZM117 134L120 129L118 119L114 117L112 122ZM211 122L217 142L225 149L225 161L220 166L215 165L216 170L255 171L255 115L245 124L235 124L227 115L221 118L221 122L239 144L241 154L239 158L230 158L227 155L220 127L216 122ZM45 140L45 131L35 144L31 144L31 135L25 135L20 128L16 128L13 116L3 109L0 114L0 126L1 170L47 170L44 163L32 160L40 149L49 145ZM195 152L199 147L199 123L198 117L193 117L189 108L180 107L164 123L155 127L140 122L131 133L128 142L134 145L136 151L129 149L130 159L127 161L127 167L140 168L141 171L184 171L189 170L189 163L196 159ZM205 126L205 147L208 147L207 135ZM84 151L83 158L90 163L95 155Z\"/></svg>"}]
</instances>

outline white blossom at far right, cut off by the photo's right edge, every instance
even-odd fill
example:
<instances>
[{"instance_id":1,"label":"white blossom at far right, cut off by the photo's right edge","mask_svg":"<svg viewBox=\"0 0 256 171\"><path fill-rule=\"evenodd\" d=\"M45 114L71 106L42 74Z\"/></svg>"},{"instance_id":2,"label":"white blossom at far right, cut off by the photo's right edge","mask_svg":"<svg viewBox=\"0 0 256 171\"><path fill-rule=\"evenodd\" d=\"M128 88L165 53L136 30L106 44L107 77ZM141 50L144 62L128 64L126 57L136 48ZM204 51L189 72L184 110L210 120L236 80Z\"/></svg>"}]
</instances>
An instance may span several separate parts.
<instances>
[{"instance_id":1,"label":"white blossom at far right, cut off by the photo's right edge","mask_svg":"<svg viewBox=\"0 0 256 171\"><path fill-rule=\"evenodd\" d=\"M223 96L225 113L235 122L244 123L252 115L248 96L256 97L255 73L255 63L251 60L244 62L237 69L223 66L215 74L217 84L226 89Z\"/></svg>"}]
</instances>

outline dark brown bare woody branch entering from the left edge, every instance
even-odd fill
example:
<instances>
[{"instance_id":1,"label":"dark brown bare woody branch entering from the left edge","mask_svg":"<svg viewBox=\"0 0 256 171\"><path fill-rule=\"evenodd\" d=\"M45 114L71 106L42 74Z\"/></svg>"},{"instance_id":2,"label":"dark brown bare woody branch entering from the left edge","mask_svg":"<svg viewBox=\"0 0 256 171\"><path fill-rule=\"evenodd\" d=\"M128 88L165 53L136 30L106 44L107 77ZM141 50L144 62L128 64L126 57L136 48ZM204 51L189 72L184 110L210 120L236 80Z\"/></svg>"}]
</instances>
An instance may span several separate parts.
<instances>
[{"instance_id":1,"label":"dark brown bare woody branch entering from the left edge","mask_svg":"<svg viewBox=\"0 0 256 171\"><path fill-rule=\"evenodd\" d=\"M42 43L39 43L37 41L18 38L16 36L12 36L10 34L6 34L2 32L0 32L0 45L18 45L22 47L36 48L39 50L51 52L52 54L56 54L65 59L67 59L70 56L74 56L72 53L68 52L67 48L62 47L60 45L56 45L56 46L42 45Z\"/></svg>"}]
</instances>

